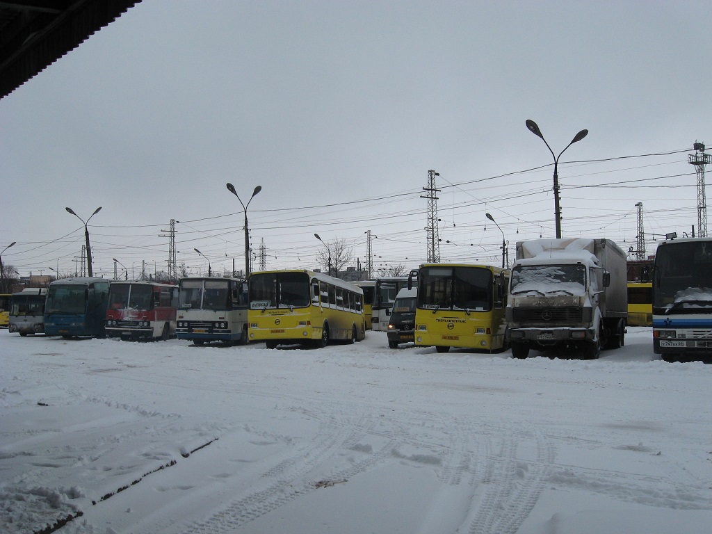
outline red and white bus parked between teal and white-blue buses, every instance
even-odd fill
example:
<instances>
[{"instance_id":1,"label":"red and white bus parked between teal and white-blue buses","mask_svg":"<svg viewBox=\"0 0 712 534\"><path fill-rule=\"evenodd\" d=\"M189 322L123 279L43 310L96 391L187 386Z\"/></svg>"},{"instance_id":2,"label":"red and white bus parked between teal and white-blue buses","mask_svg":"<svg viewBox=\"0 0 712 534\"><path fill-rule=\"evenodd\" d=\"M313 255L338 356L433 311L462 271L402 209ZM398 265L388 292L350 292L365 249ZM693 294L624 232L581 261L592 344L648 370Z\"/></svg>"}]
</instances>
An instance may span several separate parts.
<instances>
[{"instance_id":1,"label":"red and white bus parked between teal and white-blue buses","mask_svg":"<svg viewBox=\"0 0 712 534\"><path fill-rule=\"evenodd\" d=\"M122 339L174 337L178 286L115 281L109 287L106 335Z\"/></svg>"}]
</instances>

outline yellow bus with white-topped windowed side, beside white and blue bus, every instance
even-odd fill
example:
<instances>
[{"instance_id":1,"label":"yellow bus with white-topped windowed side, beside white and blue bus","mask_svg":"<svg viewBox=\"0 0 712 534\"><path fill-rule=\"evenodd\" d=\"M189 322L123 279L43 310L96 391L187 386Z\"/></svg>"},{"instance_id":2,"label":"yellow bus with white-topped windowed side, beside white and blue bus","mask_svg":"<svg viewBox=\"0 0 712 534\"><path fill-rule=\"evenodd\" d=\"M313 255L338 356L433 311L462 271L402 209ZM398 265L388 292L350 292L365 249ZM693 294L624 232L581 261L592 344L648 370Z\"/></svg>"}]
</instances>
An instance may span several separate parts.
<instances>
[{"instance_id":1,"label":"yellow bus with white-topped windowed side, beside white and blue bus","mask_svg":"<svg viewBox=\"0 0 712 534\"><path fill-rule=\"evenodd\" d=\"M250 341L325 347L366 335L363 290L313 271L263 271L248 280Z\"/></svg>"}]
</instances>

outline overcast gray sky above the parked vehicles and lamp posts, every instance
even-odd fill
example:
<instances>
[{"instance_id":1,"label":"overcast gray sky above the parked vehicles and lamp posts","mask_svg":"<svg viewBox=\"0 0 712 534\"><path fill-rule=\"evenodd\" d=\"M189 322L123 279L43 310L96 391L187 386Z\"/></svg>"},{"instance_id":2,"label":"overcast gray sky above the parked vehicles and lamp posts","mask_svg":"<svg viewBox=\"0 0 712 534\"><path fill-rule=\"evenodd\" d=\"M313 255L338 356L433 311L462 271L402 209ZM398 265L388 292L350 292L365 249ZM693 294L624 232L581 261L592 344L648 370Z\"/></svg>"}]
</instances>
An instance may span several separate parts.
<instances>
[{"instance_id":1,"label":"overcast gray sky above the parked vehicles and lamp posts","mask_svg":"<svg viewBox=\"0 0 712 534\"><path fill-rule=\"evenodd\" d=\"M697 226L696 141L712 144L703 1L144 0L0 100L0 251L21 275L313 268L314 238L375 267L426 259L428 170L442 261L498 263L562 234L646 250ZM603 161L609 160L609 161ZM712 178L710 178L712 179ZM710 181L708 179L708 182ZM605 184L605 187L602 185ZM597 187L594 187L597 186ZM712 224L712 221L710 221ZM712 230L712 229L711 229ZM451 241L447 243L446 241ZM472 245L472 246L470 246ZM255 267L259 265L258 261Z\"/></svg>"}]
</instances>

